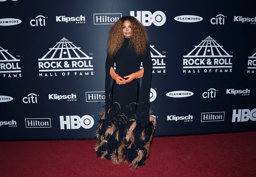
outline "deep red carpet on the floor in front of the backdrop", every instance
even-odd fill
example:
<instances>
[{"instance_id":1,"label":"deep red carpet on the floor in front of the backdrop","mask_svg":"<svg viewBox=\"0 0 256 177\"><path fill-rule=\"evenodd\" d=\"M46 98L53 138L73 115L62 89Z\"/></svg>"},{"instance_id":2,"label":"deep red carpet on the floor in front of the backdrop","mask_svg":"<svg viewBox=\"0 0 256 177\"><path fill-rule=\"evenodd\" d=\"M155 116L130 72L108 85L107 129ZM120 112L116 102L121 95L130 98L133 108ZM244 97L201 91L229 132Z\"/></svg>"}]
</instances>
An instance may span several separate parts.
<instances>
[{"instance_id":1,"label":"deep red carpet on the floor in front of the backdrop","mask_svg":"<svg viewBox=\"0 0 256 177\"><path fill-rule=\"evenodd\" d=\"M154 138L145 166L114 165L96 140L0 142L1 177L256 177L256 132Z\"/></svg>"}]
</instances>

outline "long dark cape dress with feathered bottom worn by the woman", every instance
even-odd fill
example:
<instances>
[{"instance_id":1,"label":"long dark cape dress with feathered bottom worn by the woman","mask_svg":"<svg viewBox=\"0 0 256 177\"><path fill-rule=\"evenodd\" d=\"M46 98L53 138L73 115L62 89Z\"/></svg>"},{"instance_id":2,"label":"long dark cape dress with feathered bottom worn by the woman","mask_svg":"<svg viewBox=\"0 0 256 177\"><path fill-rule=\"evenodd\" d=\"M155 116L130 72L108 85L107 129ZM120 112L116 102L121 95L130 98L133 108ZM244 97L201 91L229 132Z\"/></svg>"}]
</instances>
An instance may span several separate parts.
<instances>
[{"instance_id":1,"label":"long dark cape dress with feathered bottom worn by the woman","mask_svg":"<svg viewBox=\"0 0 256 177\"><path fill-rule=\"evenodd\" d=\"M155 119L149 109L152 60L149 44L143 56L138 56L130 39L124 38L114 58L107 56L105 79L105 112L101 112L96 132L97 156L110 159L119 164L125 159L131 169L145 164L155 130ZM143 63L144 74L141 79L117 85L110 76L110 68L116 64L116 74L124 77L140 70Z\"/></svg>"}]
</instances>

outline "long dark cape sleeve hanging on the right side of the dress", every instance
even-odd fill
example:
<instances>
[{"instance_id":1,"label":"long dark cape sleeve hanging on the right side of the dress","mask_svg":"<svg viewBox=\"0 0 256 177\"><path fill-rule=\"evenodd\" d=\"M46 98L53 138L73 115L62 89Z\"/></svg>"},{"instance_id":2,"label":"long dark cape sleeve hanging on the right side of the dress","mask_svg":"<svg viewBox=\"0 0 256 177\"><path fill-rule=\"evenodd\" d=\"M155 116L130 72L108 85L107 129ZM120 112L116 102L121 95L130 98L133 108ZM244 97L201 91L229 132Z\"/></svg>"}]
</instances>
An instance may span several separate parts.
<instances>
[{"instance_id":1,"label":"long dark cape sleeve hanging on the right side of the dress","mask_svg":"<svg viewBox=\"0 0 256 177\"><path fill-rule=\"evenodd\" d=\"M149 94L151 88L151 76L153 68L149 44L146 46L146 53L142 56L142 63L144 73L139 91L139 102L137 106L136 116L138 123L147 125L149 121Z\"/></svg>"}]
</instances>

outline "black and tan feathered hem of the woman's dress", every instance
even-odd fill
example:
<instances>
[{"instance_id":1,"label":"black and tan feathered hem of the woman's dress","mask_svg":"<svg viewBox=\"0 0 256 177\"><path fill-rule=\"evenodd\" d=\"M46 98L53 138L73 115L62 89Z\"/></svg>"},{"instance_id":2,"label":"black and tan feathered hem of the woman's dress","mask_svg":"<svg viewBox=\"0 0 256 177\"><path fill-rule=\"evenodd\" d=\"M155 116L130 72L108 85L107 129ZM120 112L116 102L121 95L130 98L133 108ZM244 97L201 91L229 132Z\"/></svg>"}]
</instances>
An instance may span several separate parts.
<instances>
[{"instance_id":1,"label":"black and tan feathered hem of the woman's dress","mask_svg":"<svg viewBox=\"0 0 256 177\"><path fill-rule=\"evenodd\" d=\"M156 127L155 118L150 115L147 126L132 120L130 127L117 127L107 121L105 112L100 115L96 132L97 144L94 147L97 156L101 159L106 157L114 164L125 160L126 163L131 163L130 169L145 164Z\"/></svg>"}]
</instances>

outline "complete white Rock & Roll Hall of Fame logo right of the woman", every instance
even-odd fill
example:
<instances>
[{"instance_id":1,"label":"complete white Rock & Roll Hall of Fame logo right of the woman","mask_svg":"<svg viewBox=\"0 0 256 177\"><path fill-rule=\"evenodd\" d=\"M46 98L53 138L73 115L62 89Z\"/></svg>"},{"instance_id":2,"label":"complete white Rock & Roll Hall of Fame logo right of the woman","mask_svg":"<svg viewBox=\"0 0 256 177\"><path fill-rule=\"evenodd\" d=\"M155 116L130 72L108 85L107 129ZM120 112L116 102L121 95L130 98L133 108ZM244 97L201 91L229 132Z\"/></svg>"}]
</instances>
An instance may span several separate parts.
<instances>
[{"instance_id":1,"label":"complete white Rock & Roll Hall of Fame logo right of the woman","mask_svg":"<svg viewBox=\"0 0 256 177\"><path fill-rule=\"evenodd\" d=\"M232 72L232 55L229 55L210 36L187 55L183 56L183 73L228 73Z\"/></svg>"}]
</instances>

